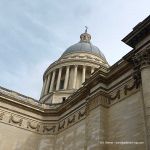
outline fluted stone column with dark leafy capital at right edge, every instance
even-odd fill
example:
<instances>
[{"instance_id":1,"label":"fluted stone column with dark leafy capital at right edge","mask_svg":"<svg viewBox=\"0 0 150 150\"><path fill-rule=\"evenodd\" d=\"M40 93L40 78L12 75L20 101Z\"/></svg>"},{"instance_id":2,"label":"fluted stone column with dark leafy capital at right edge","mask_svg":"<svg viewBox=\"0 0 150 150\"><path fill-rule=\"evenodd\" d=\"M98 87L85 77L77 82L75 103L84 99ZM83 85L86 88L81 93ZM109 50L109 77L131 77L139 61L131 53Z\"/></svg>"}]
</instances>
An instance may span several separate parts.
<instances>
[{"instance_id":1,"label":"fluted stone column with dark leafy capital at right edge","mask_svg":"<svg viewBox=\"0 0 150 150\"><path fill-rule=\"evenodd\" d=\"M132 58L134 65L133 77L136 86L141 84L143 97L143 111L145 118L145 142L146 149L150 148L150 47L135 54Z\"/></svg>"}]
</instances>

